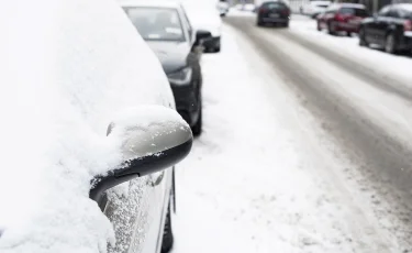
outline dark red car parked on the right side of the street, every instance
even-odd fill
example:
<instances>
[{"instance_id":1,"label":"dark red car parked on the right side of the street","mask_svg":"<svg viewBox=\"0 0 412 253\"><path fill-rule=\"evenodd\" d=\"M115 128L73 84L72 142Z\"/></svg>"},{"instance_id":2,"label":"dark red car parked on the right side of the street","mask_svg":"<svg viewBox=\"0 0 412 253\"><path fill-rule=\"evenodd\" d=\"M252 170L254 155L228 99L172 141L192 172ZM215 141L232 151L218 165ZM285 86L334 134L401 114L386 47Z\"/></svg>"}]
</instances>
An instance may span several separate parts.
<instances>
[{"instance_id":1,"label":"dark red car parked on the right side of the street","mask_svg":"<svg viewBox=\"0 0 412 253\"><path fill-rule=\"evenodd\" d=\"M364 4L337 3L330 6L326 11L318 15L318 31L327 30L330 34L346 32L358 33L363 19L369 16Z\"/></svg>"}]
</instances>

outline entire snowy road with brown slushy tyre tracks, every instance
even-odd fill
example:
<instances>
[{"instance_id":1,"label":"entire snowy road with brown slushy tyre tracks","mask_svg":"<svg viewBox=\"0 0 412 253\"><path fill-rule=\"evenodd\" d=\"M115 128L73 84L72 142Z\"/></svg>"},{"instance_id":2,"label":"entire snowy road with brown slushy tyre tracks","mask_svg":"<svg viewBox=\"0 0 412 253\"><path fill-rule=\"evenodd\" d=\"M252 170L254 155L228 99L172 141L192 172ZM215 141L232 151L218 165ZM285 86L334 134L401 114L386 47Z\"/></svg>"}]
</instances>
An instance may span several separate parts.
<instances>
[{"instance_id":1,"label":"entire snowy road with brown slushy tyre tracks","mask_svg":"<svg viewBox=\"0 0 412 253\"><path fill-rule=\"evenodd\" d=\"M205 132L177 170L175 253L412 250L412 59L311 22L225 19Z\"/></svg>"}]
</instances>

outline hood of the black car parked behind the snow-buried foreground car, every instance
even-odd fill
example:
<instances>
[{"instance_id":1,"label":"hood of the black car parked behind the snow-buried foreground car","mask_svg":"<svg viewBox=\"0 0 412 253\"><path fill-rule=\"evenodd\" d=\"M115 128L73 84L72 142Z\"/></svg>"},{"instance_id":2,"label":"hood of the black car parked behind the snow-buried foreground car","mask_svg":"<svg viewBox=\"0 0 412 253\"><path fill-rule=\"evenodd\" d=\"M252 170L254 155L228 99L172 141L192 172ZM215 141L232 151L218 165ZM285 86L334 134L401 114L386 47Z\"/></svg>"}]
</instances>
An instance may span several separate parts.
<instances>
[{"instance_id":1,"label":"hood of the black car parked behind the snow-buried foreground car","mask_svg":"<svg viewBox=\"0 0 412 253\"><path fill-rule=\"evenodd\" d=\"M177 72L187 66L190 46L187 42L147 42L157 55L166 74Z\"/></svg>"}]
</instances>

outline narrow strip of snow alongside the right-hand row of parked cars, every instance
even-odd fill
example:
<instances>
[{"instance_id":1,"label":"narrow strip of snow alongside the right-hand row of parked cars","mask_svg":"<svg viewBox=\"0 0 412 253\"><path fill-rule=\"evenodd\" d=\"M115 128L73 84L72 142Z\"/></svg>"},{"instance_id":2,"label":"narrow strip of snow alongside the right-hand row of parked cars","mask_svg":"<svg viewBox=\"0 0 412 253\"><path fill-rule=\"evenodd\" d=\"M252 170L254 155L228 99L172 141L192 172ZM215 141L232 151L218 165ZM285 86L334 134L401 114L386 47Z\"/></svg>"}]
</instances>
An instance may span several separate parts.
<instances>
[{"instance_id":1,"label":"narrow strip of snow alongside the right-hand row of parked cars","mask_svg":"<svg viewBox=\"0 0 412 253\"><path fill-rule=\"evenodd\" d=\"M359 46L358 37L353 34L347 36L332 36L326 31L316 30L316 21L302 15L293 15L290 22L290 31L303 35L318 44L329 47L342 55L357 62L364 62L371 72L379 72L389 77L402 78L410 82L412 80L412 57L390 55L378 48ZM411 87L412 87L412 82Z\"/></svg>"}]
</instances>

